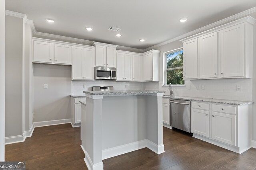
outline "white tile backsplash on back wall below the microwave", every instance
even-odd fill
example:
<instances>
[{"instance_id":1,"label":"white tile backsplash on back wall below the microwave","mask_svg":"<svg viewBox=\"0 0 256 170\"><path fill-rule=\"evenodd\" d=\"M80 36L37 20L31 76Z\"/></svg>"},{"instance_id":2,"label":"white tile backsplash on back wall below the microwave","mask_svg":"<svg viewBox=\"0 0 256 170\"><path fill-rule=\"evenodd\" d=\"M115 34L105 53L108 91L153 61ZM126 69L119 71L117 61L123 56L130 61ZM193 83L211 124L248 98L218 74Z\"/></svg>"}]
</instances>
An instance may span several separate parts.
<instances>
[{"instance_id":1,"label":"white tile backsplash on back wall below the microwave","mask_svg":"<svg viewBox=\"0 0 256 170\"><path fill-rule=\"evenodd\" d=\"M84 88L86 85L86 88ZM114 90L143 90L144 82L116 82L109 80L71 81L71 94L84 94L83 91L92 90L92 86L114 86Z\"/></svg>"}]
</instances>

